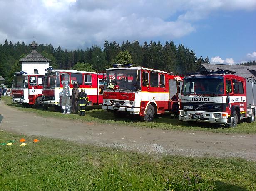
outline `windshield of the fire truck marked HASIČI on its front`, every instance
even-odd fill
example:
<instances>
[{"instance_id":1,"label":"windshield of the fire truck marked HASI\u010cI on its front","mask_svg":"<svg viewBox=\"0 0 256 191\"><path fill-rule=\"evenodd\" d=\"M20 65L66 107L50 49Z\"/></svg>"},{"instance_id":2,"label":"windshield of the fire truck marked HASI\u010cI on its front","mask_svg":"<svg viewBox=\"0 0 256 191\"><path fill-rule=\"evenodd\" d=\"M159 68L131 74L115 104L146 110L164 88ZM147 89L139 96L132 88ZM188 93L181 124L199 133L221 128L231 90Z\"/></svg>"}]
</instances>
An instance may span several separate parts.
<instances>
[{"instance_id":1,"label":"windshield of the fire truck marked HASI\u010cI on its front","mask_svg":"<svg viewBox=\"0 0 256 191\"><path fill-rule=\"evenodd\" d=\"M222 77L189 77L184 79L183 94L221 95L224 93Z\"/></svg>"}]
</instances>

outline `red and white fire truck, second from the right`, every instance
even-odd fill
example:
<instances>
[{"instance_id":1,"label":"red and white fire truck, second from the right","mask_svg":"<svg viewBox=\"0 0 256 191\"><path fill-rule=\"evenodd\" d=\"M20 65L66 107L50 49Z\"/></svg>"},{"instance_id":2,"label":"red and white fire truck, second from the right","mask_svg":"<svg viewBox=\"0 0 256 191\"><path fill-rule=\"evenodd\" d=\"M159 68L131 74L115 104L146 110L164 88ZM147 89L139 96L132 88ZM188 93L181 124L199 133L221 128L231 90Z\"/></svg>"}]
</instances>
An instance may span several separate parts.
<instances>
[{"instance_id":1,"label":"red and white fire truck, second from the right","mask_svg":"<svg viewBox=\"0 0 256 191\"><path fill-rule=\"evenodd\" d=\"M142 121L152 121L156 114L171 109L171 97L183 77L130 64L107 69L102 109L116 117L138 114Z\"/></svg>"}]
</instances>

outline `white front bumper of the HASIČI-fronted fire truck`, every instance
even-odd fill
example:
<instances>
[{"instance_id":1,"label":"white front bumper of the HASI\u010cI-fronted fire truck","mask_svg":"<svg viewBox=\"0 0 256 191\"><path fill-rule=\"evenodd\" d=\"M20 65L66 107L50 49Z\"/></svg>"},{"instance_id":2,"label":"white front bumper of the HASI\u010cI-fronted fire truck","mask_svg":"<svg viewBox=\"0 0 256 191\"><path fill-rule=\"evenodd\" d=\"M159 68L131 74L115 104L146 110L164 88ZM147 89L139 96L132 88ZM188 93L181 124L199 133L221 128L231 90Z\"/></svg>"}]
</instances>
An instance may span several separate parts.
<instances>
[{"instance_id":1,"label":"white front bumper of the HASI\u010cI-fronted fire truck","mask_svg":"<svg viewBox=\"0 0 256 191\"><path fill-rule=\"evenodd\" d=\"M187 115L181 115L183 111L184 110L179 111L179 120L181 121L201 121L221 124L228 123L228 113L226 112L185 111L187 112ZM221 114L221 117L214 117L214 114Z\"/></svg>"}]
</instances>

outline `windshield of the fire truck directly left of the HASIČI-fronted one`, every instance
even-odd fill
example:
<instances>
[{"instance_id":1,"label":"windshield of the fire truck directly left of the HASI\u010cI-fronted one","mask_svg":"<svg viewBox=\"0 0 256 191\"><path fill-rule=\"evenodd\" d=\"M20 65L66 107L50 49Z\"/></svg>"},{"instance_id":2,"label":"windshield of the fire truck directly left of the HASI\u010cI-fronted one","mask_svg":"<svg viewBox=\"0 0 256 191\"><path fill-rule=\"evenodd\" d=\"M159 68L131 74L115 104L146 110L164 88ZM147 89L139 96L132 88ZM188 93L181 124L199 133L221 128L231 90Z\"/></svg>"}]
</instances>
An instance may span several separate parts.
<instances>
[{"instance_id":1,"label":"windshield of the fire truck directly left of the HASI\u010cI-fronted one","mask_svg":"<svg viewBox=\"0 0 256 191\"><path fill-rule=\"evenodd\" d=\"M107 70L107 80L104 89L139 90L140 70Z\"/></svg>"}]
</instances>

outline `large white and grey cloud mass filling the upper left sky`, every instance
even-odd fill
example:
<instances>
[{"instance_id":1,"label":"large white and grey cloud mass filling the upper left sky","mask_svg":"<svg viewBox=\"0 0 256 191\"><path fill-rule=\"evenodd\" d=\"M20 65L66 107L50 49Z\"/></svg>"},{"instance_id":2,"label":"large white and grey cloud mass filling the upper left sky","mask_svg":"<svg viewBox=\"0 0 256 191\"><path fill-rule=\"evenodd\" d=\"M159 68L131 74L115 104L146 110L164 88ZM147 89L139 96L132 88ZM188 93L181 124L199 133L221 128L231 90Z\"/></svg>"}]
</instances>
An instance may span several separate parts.
<instances>
[{"instance_id":1,"label":"large white and grey cloud mass filling the upper left sky","mask_svg":"<svg viewBox=\"0 0 256 191\"><path fill-rule=\"evenodd\" d=\"M256 10L256 1L0 0L0 43L30 43L35 37L39 43L72 49L102 46L105 39L173 40L196 31L191 21L220 10Z\"/></svg>"}]
</instances>

